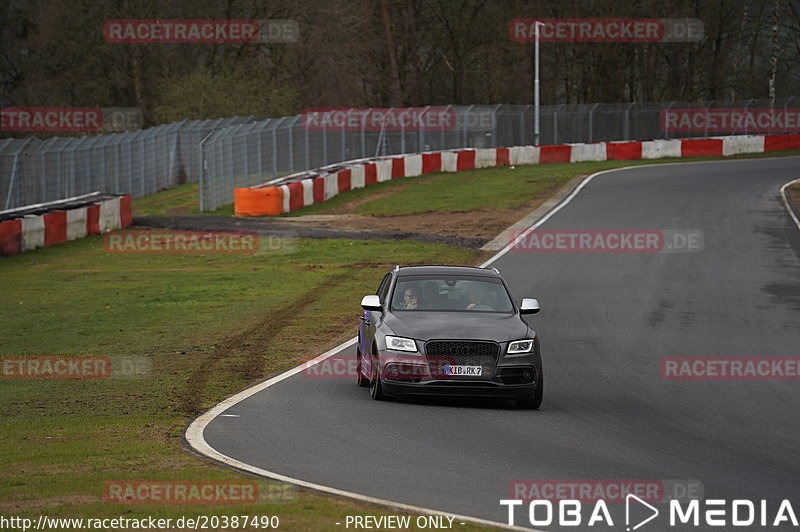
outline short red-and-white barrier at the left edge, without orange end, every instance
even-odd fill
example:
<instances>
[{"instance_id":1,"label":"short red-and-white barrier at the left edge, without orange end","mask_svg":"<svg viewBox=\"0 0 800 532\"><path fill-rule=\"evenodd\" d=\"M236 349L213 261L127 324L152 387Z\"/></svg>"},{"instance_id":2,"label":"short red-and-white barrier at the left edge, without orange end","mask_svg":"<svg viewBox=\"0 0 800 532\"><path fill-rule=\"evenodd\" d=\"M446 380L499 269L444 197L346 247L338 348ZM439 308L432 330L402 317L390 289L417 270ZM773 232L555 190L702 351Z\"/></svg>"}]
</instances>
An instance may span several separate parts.
<instances>
[{"instance_id":1,"label":"short red-and-white barrier at the left edge, without orange end","mask_svg":"<svg viewBox=\"0 0 800 532\"><path fill-rule=\"evenodd\" d=\"M57 202L56 202L57 203ZM37 206L45 210L47 205ZM131 197L122 196L76 208L59 208L41 214L20 214L0 222L0 255L52 246L129 226L133 221ZM22 211L23 209L15 209ZM13 211L6 211L12 213Z\"/></svg>"}]
</instances>

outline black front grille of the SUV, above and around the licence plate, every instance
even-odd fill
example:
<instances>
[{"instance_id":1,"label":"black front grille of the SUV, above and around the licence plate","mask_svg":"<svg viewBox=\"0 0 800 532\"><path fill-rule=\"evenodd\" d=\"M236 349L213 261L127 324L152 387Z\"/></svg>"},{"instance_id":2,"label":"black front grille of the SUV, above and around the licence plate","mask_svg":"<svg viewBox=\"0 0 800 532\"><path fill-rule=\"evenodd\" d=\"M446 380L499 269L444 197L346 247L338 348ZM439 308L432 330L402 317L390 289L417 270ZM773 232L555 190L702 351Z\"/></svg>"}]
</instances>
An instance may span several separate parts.
<instances>
[{"instance_id":1,"label":"black front grille of the SUV, above and around the licence plate","mask_svg":"<svg viewBox=\"0 0 800 532\"><path fill-rule=\"evenodd\" d=\"M431 340L425 344L428 369L434 379L490 380L494 376L500 345L494 342ZM445 365L481 366L481 376L452 376L444 373Z\"/></svg>"}]
</instances>

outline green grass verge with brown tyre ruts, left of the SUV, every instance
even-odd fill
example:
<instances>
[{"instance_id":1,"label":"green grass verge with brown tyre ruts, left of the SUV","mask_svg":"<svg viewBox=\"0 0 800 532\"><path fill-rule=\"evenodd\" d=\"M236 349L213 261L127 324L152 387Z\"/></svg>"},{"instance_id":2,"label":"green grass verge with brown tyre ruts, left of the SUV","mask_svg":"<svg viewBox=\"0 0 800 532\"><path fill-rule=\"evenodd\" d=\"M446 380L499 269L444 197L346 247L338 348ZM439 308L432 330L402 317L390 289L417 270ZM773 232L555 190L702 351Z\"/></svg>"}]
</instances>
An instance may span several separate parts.
<instances>
[{"instance_id":1,"label":"green grass verge with brown tyre ruts, left of the SUV","mask_svg":"<svg viewBox=\"0 0 800 532\"><path fill-rule=\"evenodd\" d=\"M111 504L102 495L112 480L254 480L188 453L188 421L351 337L358 296L373 292L392 264L474 264L475 252L298 240L262 255L109 254L102 242L0 259L0 357L131 356L151 369L129 379L0 380L0 513L273 514L284 530L331 530L346 514L393 513L293 488L288 498L216 506ZM277 489L255 480L262 494Z\"/></svg>"}]
</instances>

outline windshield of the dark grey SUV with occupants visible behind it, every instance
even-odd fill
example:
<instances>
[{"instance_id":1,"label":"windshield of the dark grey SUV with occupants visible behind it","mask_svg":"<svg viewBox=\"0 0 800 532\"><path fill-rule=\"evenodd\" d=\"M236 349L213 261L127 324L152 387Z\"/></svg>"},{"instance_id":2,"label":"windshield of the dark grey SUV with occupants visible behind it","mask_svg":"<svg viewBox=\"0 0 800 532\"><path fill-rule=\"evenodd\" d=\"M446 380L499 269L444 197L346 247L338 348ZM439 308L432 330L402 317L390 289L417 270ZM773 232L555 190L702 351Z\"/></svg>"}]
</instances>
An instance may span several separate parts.
<instances>
[{"instance_id":1,"label":"windshield of the dark grey SUV with occupants visible behind it","mask_svg":"<svg viewBox=\"0 0 800 532\"><path fill-rule=\"evenodd\" d=\"M514 311L500 279L491 277L401 277L392 293L392 310L448 312Z\"/></svg>"}]
</instances>

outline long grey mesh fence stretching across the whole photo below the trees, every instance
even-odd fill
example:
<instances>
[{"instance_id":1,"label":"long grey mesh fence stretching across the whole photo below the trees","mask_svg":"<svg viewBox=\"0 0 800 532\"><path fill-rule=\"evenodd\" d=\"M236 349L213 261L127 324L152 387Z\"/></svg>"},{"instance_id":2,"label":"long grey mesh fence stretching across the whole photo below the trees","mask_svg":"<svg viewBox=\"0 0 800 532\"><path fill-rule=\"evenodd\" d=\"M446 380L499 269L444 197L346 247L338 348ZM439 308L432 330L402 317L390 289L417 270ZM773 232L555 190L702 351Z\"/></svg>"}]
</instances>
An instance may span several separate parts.
<instances>
[{"instance_id":1,"label":"long grey mesh fence stretching across the whole photo below the trees","mask_svg":"<svg viewBox=\"0 0 800 532\"><path fill-rule=\"evenodd\" d=\"M800 99L555 105L540 108L539 144L649 140L723 134L694 128L670 132L669 109L789 111ZM184 120L113 135L0 140L0 209L63 199L95 190L147 196L199 182L200 209L233 202L235 187L353 159L455 148L534 144L532 105L424 108L446 119L433 127L386 127L370 117L404 110L328 110L338 123L309 125L308 114L275 119ZM372 114L370 114L372 113ZM396 116L395 116L396 117ZM798 128L795 126L794 130ZM787 130L788 131L788 130ZM725 134L763 133L750 125Z\"/></svg>"}]
</instances>

